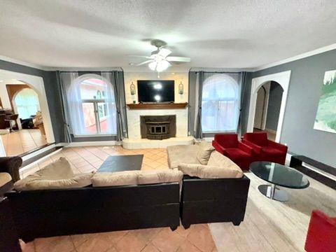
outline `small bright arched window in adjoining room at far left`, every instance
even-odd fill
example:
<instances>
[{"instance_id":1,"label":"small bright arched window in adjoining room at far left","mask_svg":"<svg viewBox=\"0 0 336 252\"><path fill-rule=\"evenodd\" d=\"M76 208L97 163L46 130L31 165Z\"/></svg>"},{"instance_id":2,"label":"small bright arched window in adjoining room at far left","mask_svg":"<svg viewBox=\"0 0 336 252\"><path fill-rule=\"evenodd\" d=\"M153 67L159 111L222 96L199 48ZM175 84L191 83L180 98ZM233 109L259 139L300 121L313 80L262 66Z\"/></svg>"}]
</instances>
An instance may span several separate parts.
<instances>
[{"instance_id":1,"label":"small bright arched window in adjoining room at far left","mask_svg":"<svg viewBox=\"0 0 336 252\"><path fill-rule=\"evenodd\" d=\"M35 116L37 111L41 111L38 95L31 88L24 88L15 95L14 103L18 111L19 118L27 119Z\"/></svg>"}]
</instances>

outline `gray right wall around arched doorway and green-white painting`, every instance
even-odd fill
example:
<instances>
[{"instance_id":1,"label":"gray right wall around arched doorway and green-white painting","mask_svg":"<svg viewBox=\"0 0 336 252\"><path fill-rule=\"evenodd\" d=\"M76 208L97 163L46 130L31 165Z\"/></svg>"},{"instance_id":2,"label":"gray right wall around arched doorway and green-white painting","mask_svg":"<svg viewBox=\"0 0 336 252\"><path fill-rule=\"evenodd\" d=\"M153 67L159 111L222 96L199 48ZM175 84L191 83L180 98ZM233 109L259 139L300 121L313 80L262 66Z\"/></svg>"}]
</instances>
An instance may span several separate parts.
<instances>
[{"instance_id":1,"label":"gray right wall around arched doorway and green-white painting","mask_svg":"<svg viewBox=\"0 0 336 252\"><path fill-rule=\"evenodd\" d=\"M336 134L314 130L325 71L336 69L336 50L251 73L251 78L291 70L281 143L291 153L307 155L336 167ZM243 132L248 120L251 80L244 90Z\"/></svg>"}]
</instances>

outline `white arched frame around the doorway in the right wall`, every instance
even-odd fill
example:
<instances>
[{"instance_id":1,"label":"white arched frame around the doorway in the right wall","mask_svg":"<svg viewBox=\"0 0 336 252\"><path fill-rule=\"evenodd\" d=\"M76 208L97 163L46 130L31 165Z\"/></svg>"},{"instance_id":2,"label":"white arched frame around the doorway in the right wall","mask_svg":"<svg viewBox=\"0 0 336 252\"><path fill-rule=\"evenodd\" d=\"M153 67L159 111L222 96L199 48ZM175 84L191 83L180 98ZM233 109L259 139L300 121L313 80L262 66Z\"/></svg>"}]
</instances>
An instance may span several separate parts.
<instances>
[{"instance_id":1,"label":"white arched frame around the doorway in the right wall","mask_svg":"<svg viewBox=\"0 0 336 252\"><path fill-rule=\"evenodd\" d=\"M277 126L276 126L276 137L275 137L275 141L277 142L280 141L281 130L282 130L282 125L283 125L283 116L285 114L285 109L286 109L289 80L290 80L290 71L274 73L274 74L270 74L267 76L261 76L261 77L252 79L250 107L248 111L247 132L253 132L253 129L254 129L255 108L257 105L258 90L265 83L274 81L278 83L283 90L283 93L281 96L281 105L279 109L279 119L278 119Z\"/></svg>"}]
</instances>

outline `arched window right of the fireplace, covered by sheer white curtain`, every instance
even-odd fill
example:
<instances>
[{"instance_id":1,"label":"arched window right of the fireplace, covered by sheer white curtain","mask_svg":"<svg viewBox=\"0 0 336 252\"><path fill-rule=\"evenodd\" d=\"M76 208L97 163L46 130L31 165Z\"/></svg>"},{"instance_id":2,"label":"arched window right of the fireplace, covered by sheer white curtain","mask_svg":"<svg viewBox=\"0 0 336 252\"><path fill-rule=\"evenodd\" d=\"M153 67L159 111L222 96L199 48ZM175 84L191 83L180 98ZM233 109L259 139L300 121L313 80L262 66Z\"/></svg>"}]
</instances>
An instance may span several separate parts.
<instances>
[{"instance_id":1,"label":"arched window right of the fireplace, covered by sheer white curtain","mask_svg":"<svg viewBox=\"0 0 336 252\"><path fill-rule=\"evenodd\" d=\"M202 131L236 132L239 118L239 84L228 74L204 80L202 90Z\"/></svg>"}]
</instances>

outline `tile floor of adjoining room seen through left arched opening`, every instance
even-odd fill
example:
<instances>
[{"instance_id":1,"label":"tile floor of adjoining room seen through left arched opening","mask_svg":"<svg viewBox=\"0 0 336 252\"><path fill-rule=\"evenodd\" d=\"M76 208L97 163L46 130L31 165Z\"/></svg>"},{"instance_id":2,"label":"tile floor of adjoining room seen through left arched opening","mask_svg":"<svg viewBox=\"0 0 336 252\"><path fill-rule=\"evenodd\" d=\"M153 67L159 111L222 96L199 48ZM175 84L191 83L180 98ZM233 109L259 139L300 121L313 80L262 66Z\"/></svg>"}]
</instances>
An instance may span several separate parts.
<instances>
[{"instance_id":1,"label":"tile floor of adjoining room seen through left arched opening","mask_svg":"<svg viewBox=\"0 0 336 252\"><path fill-rule=\"evenodd\" d=\"M42 136L38 129L18 130L3 135L1 138L8 156L20 155L47 144L45 136Z\"/></svg>"}]
</instances>

